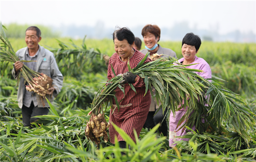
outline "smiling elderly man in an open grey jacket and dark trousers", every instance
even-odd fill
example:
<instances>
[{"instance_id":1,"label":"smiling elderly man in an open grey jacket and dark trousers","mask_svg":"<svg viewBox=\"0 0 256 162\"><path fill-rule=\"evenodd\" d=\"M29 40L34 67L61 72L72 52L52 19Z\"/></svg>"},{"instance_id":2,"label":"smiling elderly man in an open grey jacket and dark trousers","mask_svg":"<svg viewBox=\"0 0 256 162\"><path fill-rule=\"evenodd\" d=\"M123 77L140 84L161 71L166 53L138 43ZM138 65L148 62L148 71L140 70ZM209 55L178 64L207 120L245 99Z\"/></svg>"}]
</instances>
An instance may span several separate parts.
<instances>
[{"instance_id":1,"label":"smiling elderly man in an open grey jacket and dark trousers","mask_svg":"<svg viewBox=\"0 0 256 162\"><path fill-rule=\"evenodd\" d=\"M57 62L54 58L54 54L40 46L38 43L41 40L41 31L36 26L30 26L26 30L25 41L27 47L22 48L16 52L16 55L20 60L36 61L36 62L24 62L30 69L45 75L53 79L53 86L50 87L49 93L47 93L47 99L52 102L62 88L63 76L58 68ZM23 67L23 63L17 61L13 64L12 74L15 79L20 73L20 69ZM34 92L28 92L25 89L24 78L20 77L20 84L18 89L18 104L22 112L23 126L31 127L32 122L38 118L32 118L39 115L47 115L49 112L49 105L47 100L40 97Z\"/></svg>"}]
</instances>

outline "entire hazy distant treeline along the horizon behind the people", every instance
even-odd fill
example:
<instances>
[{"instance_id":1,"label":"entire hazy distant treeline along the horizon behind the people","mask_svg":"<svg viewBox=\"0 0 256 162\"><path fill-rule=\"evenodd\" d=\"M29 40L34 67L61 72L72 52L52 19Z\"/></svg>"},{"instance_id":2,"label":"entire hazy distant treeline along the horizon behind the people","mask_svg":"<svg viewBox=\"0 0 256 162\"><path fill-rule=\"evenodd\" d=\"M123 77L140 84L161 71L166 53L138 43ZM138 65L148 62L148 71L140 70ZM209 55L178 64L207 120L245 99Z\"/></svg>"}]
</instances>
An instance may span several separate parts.
<instances>
[{"instance_id":1,"label":"entire hazy distant treeline along the horizon behind the people","mask_svg":"<svg viewBox=\"0 0 256 162\"><path fill-rule=\"evenodd\" d=\"M33 24L34 25L34 24ZM16 23L5 25L7 27L7 37L23 38L25 36L25 31L30 25L20 25ZM56 26L44 26L35 25L42 31L41 36L46 37L69 37L69 38L83 38L85 35L87 38L92 39L112 39L112 33L115 31L115 26L109 28L105 27L104 22L98 21L95 26L89 25L61 25ZM128 27L128 26L127 26ZM143 39L141 36L141 30L144 25L138 25L135 27L130 27L130 30L134 33L135 37ZM193 32L199 35L203 41L213 41L213 42L239 42L239 43L256 43L256 34L252 31L248 33L242 33L241 31L230 31L226 34L219 34L218 30L205 30L197 29L196 27L189 27L188 22L175 23L170 27L161 27L161 39L160 40L170 40L170 41L181 41L182 38L188 33Z\"/></svg>"}]
</instances>

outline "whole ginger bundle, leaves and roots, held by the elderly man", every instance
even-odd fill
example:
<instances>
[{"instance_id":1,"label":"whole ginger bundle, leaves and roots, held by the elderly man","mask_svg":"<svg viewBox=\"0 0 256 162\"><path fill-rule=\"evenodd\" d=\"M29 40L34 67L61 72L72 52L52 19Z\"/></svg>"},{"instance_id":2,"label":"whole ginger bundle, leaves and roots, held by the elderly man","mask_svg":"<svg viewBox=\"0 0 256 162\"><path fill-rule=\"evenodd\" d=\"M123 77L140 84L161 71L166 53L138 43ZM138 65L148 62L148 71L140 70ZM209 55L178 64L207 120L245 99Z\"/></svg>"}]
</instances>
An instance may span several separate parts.
<instances>
[{"instance_id":1,"label":"whole ginger bundle, leaves and roots, held by the elderly man","mask_svg":"<svg viewBox=\"0 0 256 162\"><path fill-rule=\"evenodd\" d=\"M17 61L32 62L32 61L26 61L26 60L19 60L18 56L15 54L13 50L12 45L7 39L7 36L3 28L5 27L0 22L0 40L1 40L0 62L1 62L1 67L3 67L3 69L1 70L2 75L7 69L9 62L14 62L14 63ZM20 81L20 76L22 76L25 79L25 81L28 83L28 86L26 86L27 91L29 92L34 91L34 93L37 93L42 97L45 96L47 93L49 93L48 88L52 87L53 80L49 76L43 73L40 74L28 68L26 65L23 65L23 67L20 69L20 73L18 74L18 77L17 77L18 83Z\"/></svg>"}]
</instances>

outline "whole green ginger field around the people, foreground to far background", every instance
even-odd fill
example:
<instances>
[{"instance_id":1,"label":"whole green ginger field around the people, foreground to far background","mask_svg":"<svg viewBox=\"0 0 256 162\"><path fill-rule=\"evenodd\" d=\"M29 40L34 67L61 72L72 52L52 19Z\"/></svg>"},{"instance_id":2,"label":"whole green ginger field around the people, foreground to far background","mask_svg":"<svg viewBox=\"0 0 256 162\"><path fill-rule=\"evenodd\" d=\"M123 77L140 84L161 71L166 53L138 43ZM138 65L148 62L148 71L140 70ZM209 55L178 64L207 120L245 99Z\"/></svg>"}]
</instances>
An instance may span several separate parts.
<instances>
[{"instance_id":1,"label":"whole green ginger field around the people, foreground to far background","mask_svg":"<svg viewBox=\"0 0 256 162\"><path fill-rule=\"evenodd\" d=\"M74 49L69 38L59 38ZM9 38L13 49L26 47L24 39ZM81 48L82 39L72 40ZM113 40L85 39L87 49L100 50L111 56ZM164 48L182 57L181 42L160 41ZM50 50L60 48L54 38L42 38L41 46ZM144 44L142 48L144 49ZM72 51L72 50L70 50ZM72 56L72 58L70 58ZM197 53L205 59L216 81L234 93L234 100L256 114L256 44L202 42ZM56 57L56 55L55 55ZM11 75L12 65L0 78L0 162L252 162L256 161L256 125L247 132L250 140L232 130L229 121L223 121L222 132L189 132L191 140L181 141L175 148L168 147L168 137L153 130L142 129L134 143L116 128L131 146L121 150L118 146L101 141L100 147L85 137L90 106L95 92L107 81L107 67L101 55L83 64L73 55L58 62L64 76L63 88L54 100L48 115L41 116L40 126L22 127L21 110L17 104L17 81ZM74 68L74 70L69 70ZM225 81L222 81L222 80ZM108 121L108 108L105 118ZM256 116L252 116L255 123ZM235 118L234 116L232 118ZM126 151L121 156L121 151Z\"/></svg>"}]
</instances>

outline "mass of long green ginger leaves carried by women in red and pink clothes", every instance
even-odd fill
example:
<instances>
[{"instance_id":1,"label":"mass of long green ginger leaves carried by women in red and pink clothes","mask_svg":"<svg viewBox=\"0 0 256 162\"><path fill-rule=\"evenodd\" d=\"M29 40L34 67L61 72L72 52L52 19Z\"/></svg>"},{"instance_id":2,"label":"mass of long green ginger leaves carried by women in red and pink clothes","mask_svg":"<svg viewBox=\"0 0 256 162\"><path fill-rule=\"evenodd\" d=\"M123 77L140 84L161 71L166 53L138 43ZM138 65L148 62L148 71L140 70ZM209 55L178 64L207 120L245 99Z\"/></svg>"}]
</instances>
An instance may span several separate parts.
<instances>
[{"instance_id":1,"label":"mass of long green ginger leaves carried by women in red and pink clothes","mask_svg":"<svg viewBox=\"0 0 256 162\"><path fill-rule=\"evenodd\" d=\"M160 58L159 55L152 56L155 61L144 64L148 56L149 53L133 69L128 60L128 70L144 80L145 94L149 90L157 104L162 105L163 112L167 109L167 112L175 114L182 107L187 108L177 127L181 126L180 129L185 129L185 126L195 125L199 133L208 130L221 134L224 130L223 123L228 120L230 128L249 144L251 138L248 131L255 125L252 118L255 114L243 105L243 101L236 99L235 93L217 84L216 79L211 78L212 82L210 82L195 73L203 71L186 68L191 64L181 65L176 59ZM113 68L112 72L115 75ZM104 113L103 108L107 109L108 102L111 108L120 108L121 101L115 96L116 88L120 88L125 93L125 86L130 86L136 93L133 84L120 84L121 81L123 78L115 75L99 89L94 97L92 110L88 114L91 118L99 112ZM151 86L155 87L155 95ZM113 107L114 100L116 107ZM206 119L202 120L202 117Z\"/></svg>"}]
</instances>

